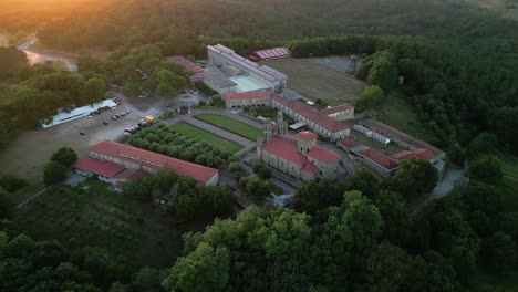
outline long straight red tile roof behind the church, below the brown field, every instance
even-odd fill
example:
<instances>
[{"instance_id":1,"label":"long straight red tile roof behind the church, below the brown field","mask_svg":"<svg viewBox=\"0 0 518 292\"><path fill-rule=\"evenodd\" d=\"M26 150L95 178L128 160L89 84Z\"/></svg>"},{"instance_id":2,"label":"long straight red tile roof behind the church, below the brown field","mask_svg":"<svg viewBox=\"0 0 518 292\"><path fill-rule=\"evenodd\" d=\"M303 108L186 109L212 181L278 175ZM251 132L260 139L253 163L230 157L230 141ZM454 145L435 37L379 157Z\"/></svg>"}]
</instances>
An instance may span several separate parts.
<instances>
[{"instance_id":1,"label":"long straight red tile roof behind the church, below the brown field","mask_svg":"<svg viewBox=\"0 0 518 292\"><path fill-rule=\"evenodd\" d=\"M273 94L272 98L331 133L336 133L349 128L348 125L329 117L321 111L317 111L302 102L290 101L277 94Z\"/></svg>"}]
</instances>

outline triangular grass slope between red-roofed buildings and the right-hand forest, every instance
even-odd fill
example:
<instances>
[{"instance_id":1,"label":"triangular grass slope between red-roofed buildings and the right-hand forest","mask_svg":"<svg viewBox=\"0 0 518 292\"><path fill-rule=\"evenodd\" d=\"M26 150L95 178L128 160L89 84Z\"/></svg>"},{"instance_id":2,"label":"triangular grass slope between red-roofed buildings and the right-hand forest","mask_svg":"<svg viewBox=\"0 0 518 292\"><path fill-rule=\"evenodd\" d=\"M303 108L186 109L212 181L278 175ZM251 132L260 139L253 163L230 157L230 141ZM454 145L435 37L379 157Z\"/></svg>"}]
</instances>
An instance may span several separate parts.
<instances>
[{"instance_id":1,"label":"triangular grass slope between red-roofed buildings and the right-hand forest","mask_svg":"<svg viewBox=\"0 0 518 292\"><path fill-rule=\"evenodd\" d=\"M371 113L381 122L395 127L411 136L425 140L429 144L436 144L437 137L423 124L415 109L405 101L403 93L392 91L383 104L371 111Z\"/></svg>"}]
</instances>

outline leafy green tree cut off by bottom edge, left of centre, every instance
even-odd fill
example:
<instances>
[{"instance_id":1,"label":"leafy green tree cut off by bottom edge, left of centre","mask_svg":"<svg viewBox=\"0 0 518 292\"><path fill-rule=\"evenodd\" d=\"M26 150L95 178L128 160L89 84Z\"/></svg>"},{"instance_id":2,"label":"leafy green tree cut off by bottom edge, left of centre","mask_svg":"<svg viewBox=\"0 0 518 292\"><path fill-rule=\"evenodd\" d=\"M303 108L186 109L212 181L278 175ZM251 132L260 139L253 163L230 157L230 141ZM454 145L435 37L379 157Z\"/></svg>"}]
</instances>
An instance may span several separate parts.
<instances>
[{"instance_id":1,"label":"leafy green tree cut off by bottom edge, left of centre","mask_svg":"<svg viewBox=\"0 0 518 292\"><path fill-rule=\"evenodd\" d=\"M207 243L178 258L162 283L167 291L217 292L229 281L230 254L227 248Z\"/></svg>"}]
</instances>

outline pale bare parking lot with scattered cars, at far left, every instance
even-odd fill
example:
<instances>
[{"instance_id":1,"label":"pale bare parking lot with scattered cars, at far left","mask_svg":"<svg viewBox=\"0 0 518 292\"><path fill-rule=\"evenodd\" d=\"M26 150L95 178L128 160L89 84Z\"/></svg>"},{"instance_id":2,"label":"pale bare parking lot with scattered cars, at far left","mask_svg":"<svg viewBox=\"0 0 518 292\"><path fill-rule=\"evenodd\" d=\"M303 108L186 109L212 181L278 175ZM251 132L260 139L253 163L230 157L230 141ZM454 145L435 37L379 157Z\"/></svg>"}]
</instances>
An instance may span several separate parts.
<instances>
[{"instance_id":1,"label":"pale bare parking lot with scattered cars, at far left","mask_svg":"<svg viewBox=\"0 0 518 292\"><path fill-rule=\"evenodd\" d=\"M114 114L125 109L131 113L112 121ZM153 107L141 112L131 104L122 104L115 111L104 111L92 117L81 117L42 131L20 133L8 149L0 153L0 165L4 173L17 174L30 180L40 180L43 167L60 147L71 147L79 156L87 154L89 146L97 142L123 140L124 128L136 125L145 115L156 112ZM103 125L106 122L106 125ZM81 135L83 132L85 135Z\"/></svg>"}]
</instances>

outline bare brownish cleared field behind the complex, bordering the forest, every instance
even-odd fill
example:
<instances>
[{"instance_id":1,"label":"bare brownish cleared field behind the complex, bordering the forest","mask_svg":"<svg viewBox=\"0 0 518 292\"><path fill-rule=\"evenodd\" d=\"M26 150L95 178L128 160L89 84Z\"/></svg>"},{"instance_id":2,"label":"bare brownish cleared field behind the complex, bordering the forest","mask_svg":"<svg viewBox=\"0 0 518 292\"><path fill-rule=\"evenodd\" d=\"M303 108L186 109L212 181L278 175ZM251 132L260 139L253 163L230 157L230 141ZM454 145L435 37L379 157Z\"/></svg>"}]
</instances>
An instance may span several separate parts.
<instances>
[{"instance_id":1,"label":"bare brownish cleared field behind the complex, bordering the forest","mask_svg":"<svg viewBox=\"0 0 518 292\"><path fill-rule=\"evenodd\" d=\"M288 88L310 100L322 98L329 105L353 103L365 87L353 75L332 70L308 59L277 59L263 64L288 75Z\"/></svg>"}]
</instances>

